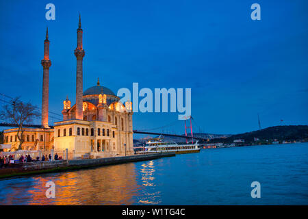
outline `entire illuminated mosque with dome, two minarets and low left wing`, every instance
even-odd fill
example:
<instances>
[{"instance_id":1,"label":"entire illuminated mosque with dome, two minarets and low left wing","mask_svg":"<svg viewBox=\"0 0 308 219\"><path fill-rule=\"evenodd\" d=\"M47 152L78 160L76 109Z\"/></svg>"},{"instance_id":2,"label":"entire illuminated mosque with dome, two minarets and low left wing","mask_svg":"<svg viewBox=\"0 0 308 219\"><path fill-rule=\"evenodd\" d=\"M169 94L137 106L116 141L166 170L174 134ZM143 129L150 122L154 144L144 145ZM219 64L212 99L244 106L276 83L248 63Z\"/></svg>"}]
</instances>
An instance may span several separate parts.
<instances>
[{"instance_id":1,"label":"entire illuminated mosque with dome, two minarets and low left wing","mask_svg":"<svg viewBox=\"0 0 308 219\"><path fill-rule=\"evenodd\" d=\"M49 127L49 36L48 29L44 40L42 85L42 127L25 128L22 139L23 150L63 151L68 149L74 157L113 157L133 154L133 121L131 102L125 105L109 88L101 86L99 80L83 92L83 29L79 15L77 48L75 57L76 102L71 105L68 98L63 101L63 120ZM18 148L18 128L4 131L4 144L11 144L11 151Z\"/></svg>"}]
</instances>

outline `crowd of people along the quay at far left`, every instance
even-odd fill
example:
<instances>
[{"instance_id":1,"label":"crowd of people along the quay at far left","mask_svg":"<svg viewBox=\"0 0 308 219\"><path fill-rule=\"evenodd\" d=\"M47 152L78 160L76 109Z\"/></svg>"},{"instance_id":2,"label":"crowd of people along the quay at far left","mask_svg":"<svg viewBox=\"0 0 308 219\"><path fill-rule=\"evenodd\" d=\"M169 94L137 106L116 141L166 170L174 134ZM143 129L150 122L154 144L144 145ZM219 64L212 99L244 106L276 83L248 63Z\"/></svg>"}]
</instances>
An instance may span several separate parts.
<instances>
[{"instance_id":1,"label":"crowd of people along the quay at far left","mask_svg":"<svg viewBox=\"0 0 308 219\"><path fill-rule=\"evenodd\" d=\"M12 164L23 164L23 163L29 163L29 162L47 162L51 161L51 154L42 155L42 157L36 157L36 159L33 159L30 155L21 155L19 159L14 159L14 155L5 155L3 157L0 156L0 168L8 167ZM62 157L59 157L57 153L55 153L54 160L62 160Z\"/></svg>"}]
</instances>

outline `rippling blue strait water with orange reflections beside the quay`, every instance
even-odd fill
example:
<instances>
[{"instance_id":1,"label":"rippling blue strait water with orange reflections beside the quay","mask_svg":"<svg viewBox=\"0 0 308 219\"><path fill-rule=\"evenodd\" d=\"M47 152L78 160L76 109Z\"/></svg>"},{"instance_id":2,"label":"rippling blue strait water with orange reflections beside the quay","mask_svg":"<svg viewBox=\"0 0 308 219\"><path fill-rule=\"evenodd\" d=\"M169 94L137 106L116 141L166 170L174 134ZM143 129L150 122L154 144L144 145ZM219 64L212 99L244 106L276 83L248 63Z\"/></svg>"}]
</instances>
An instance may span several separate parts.
<instances>
[{"instance_id":1,"label":"rippling blue strait water with orange reflections beside the quay","mask_svg":"<svg viewBox=\"0 0 308 219\"><path fill-rule=\"evenodd\" d=\"M55 198L46 198L47 181ZM251 198L251 183L261 198ZM308 205L308 143L205 149L0 180L1 205Z\"/></svg>"}]
</instances>

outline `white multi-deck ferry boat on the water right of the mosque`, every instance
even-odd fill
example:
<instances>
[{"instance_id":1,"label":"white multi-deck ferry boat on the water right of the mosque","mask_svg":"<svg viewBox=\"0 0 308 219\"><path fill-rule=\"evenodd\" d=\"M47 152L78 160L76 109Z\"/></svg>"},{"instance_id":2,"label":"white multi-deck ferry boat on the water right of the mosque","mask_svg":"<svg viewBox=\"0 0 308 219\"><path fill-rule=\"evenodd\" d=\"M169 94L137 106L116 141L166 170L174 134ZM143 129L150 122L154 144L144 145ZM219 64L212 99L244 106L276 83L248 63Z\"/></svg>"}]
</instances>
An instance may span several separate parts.
<instances>
[{"instance_id":1,"label":"white multi-deck ferry boat on the water right of the mosque","mask_svg":"<svg viewBox=\"0 0 308 219\"><path fill-rule=\"evenodd\" d=\"M159 152L175 152L181 153L198 153L198 141L194 144L177 144L176 142L149 141L144 146L144 151L140 153L159 153Z\"/></svg>"}]
</instances>

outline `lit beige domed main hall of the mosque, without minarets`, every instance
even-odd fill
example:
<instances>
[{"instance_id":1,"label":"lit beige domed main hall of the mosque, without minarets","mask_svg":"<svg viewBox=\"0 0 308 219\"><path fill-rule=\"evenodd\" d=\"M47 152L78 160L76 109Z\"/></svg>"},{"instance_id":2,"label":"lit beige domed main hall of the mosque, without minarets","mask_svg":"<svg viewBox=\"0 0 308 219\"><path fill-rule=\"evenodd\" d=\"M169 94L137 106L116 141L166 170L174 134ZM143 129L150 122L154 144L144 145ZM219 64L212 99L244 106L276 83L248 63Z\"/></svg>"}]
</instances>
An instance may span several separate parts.
<instances>
[{"instance_id":1,"label":"lit beige domed main hall of the mosque, without minarets","mask_svg":"<svg viewBox=\"0 0 308 219\"><path fill-rule=\"evenodd\" d=\"M131 103L125 107L110 89L97 83L83 96L84 120L75 118L76 105L64 101L63 121L54 124L54 147L74 151L75 157L133 154Z\"/></svg>"}]
</instances>

